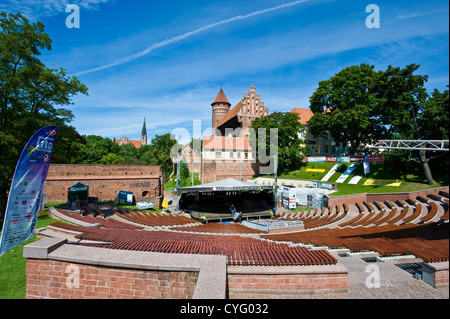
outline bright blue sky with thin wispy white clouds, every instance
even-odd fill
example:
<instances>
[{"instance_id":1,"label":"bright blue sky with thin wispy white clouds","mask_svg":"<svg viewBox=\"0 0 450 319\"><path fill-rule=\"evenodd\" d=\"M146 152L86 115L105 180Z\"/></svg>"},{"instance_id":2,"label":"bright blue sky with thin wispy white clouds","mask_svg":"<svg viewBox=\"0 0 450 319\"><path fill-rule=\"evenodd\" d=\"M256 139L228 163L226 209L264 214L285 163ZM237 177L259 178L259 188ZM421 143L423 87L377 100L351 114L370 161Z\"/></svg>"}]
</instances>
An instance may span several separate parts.
<instances>
[{"instance_id":1,"label":"bright blue sky with thin wispy white clouds","mask_svg":"<svg viewBox=\"0 0 450 319\"><path fill-rule=\"evenodd\" d=\"M366 6L380 9L369 29ZM80 8L80 28L65 21ZM211 127L222 87L234 106L253 83L270 112L309 107L319 81L349 65L420 64L426 85L449 82L448 1L0 0L0 10L44 22L41 59L88 86L71 109L80 134L139 139Z\"/></svg>"}]
</instances>

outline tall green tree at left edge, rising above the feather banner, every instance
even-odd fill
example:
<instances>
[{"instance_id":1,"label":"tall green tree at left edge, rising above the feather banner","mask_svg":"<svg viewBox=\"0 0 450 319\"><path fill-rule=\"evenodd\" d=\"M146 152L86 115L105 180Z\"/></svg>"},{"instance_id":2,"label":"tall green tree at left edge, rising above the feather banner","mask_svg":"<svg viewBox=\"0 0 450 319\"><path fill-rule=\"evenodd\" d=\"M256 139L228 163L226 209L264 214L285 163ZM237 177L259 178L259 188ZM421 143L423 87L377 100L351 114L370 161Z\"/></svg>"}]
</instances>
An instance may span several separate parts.
<instances>
[{"instance_id":1,"label":"tall green tree at left edge, rising above the feather banner","mask_svg":"<svg viewBox=\"0 0 450 319\"><path fill-rule=\"evenodd\" d=\"M75 76L67 76L62 68L49 69L39 60L41 50L50 49L42 22L0 13L0 211L6 207L14 169L28 139L42 126L70 122L73 114L64 107L74 95L87 94Z\"/></svg>"}]
</instances>

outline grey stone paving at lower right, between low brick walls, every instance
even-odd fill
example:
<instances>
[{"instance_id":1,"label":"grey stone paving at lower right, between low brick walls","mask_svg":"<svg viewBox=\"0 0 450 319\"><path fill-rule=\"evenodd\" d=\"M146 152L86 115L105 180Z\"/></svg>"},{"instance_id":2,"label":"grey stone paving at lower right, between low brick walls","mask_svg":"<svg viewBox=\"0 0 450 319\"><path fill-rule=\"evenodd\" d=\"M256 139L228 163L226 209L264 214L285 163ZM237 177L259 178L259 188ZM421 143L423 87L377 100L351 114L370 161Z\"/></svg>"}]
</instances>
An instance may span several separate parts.
<instances>
[{"instance_id":1,"label":"grey stone paving at lower right, between low brick walls","mask_svg":"<svg viewBox=\"0 0 450 319\"><path fill-rule=\"evenodd\" d=\"M349 292L306 296L309 299L449 299L449 289L436 289L415 278L421 273L421 259L391 259L377 261L375 254L346 256L332 252L348 269ZM373 285L375 273L379 274L379 287Z\"/></svg>"}]
</instances>

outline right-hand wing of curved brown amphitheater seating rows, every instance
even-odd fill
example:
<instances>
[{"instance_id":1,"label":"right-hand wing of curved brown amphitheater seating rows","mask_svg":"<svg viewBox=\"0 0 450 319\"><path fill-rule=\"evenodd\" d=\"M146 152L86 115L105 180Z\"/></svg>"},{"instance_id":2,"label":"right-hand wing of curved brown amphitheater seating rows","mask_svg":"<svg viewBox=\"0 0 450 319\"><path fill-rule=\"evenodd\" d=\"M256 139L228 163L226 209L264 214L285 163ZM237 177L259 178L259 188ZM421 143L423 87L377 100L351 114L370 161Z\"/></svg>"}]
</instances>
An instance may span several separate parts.
<instances>
[{"instance_id":1,"label":"right-hand wing of curved brown amphitheater seating rows","mask_svg":"<svg viewBox=\"0 0 450 319\"><path fill-rule=\"evenodd\" d=\"M339 224L339 228L261 237L354 252L375 251L380 256L412 254L426 262L448 261L448 205L442 204L445 213L440 220L443 223L435 223L432 221L439 213L436 201L430 199L426 205L417 203L414 206L404 201L396 202L397 205L385 201L388 210L380 209L382 205L375 202L373 207L380 210L358 213L351 220ZM361 204L359 206L361 208ZM370 209L370 205L364 206Z\"/></svg>"}]
</instances>

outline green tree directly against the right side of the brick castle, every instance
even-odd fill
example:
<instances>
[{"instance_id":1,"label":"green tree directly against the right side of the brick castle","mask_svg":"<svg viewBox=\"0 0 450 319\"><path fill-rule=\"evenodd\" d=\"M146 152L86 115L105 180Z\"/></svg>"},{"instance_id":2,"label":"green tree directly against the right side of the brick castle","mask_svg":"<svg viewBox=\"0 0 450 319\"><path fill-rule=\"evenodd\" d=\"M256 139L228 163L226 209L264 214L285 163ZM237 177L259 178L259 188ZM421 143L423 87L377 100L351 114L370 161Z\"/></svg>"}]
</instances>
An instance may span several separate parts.
<instances>
[{"instance_id":1,"label":"green tree directly against the right side of the brick castle","mask_svg":"<svg viewBox=\"0 0 450 319\"><path fill-rule=\"evenodd\" d=\"M259 145L259 139L261 138L258 135L259 129L266 129L264 137L265 154L270 154L270 129L277 130L278 148L275 150L275 153L278 154L278 172L280 173L298 169L304 157L304 141L300 139L300 132L304 127L299 120L297 113L274 112L267 116L256 118L252 122L250 140L255 151L261 147ZM270 156L273 155L270 154Z\"/></svg>"}]
</instances>

